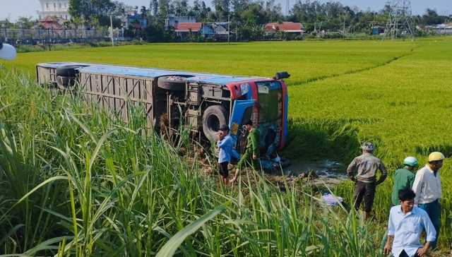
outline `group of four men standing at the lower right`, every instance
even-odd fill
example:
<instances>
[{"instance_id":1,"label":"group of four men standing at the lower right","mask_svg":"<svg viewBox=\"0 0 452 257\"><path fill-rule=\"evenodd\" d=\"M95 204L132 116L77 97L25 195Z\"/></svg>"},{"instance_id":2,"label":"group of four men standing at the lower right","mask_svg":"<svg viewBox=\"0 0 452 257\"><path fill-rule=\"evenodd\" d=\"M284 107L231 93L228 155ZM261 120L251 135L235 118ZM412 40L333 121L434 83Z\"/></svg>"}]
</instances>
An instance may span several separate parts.
<instances>
[{"instance_id":1,"label":"group of four men standing at the lower right","mask_svg":"<svg viewBox=\"0 0 452 257\"><path fill-rule=\"evenodd\" d=\"M364 143L361 148L362 155L355 157L350 163L347 174L355 181L354 207L358 210L364 199L364 219L367 219L374 203L376 186L386 179L387 171L381 160L372 154L374 151L372 143ZM436 250L441 209L439 169L444 159L442 153L430 153L427 165L413 174L417 160L410 156L403 160L404 167L396 170L391 193L387 241L383 248L385 254L412 257L424 256L429 248ZM378 170L381 174L377 181ZM422 229L425 229L425 244L420 244Z\"/></svg>"}]
</instances>

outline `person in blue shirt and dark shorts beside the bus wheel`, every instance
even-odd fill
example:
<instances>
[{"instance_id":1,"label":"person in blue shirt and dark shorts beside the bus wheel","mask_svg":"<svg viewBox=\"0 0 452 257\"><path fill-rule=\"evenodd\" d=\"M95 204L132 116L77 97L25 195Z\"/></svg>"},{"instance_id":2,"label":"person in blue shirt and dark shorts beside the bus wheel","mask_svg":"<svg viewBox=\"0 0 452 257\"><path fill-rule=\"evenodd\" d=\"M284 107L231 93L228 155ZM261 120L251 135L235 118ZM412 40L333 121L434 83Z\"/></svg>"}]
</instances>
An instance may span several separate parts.
<instances>
[{"instance_id":1,"label":"person in blue shirt and dark shorts beside the bus wheel","mask_svg":"<svg viewBox=\"0 0 452 257\"><path fill-rule=\"evenodd\" d=\"M232 155L232 138L229 135L229 127L227 125L220 126L218 129L217 147L220 150L218 155L218 165L220 166L220 177L223 185L227 185L227 165L231 161Z\"/></svg>"}]
</instances>

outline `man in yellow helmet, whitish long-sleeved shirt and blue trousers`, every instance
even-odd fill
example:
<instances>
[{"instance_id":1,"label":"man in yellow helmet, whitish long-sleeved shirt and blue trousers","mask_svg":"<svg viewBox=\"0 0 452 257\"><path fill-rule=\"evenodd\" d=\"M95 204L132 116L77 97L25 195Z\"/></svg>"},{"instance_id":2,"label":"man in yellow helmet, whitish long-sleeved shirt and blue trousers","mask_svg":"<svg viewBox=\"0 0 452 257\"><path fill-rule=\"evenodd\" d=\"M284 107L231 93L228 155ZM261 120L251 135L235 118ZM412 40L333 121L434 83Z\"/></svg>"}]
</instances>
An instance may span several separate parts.
<instances>
[{"instance_id":1,"label":"man in yellow helmet, whitish long-sleeved shirt and blue trousers","mask_svg":"<svg viewBox=\"0 0 452 257\"><path fill-rule=\"evenodd\" d=\"M429 163L416 172L415 181L412 184L412 191L416 194L415 205L427 212L436 230L436 239L430 244L432 249L436 249L436 241L439 237L441 179L438 171L443 166L443 160L442 153L431 153Z\"/></svg>"}]
</instances>

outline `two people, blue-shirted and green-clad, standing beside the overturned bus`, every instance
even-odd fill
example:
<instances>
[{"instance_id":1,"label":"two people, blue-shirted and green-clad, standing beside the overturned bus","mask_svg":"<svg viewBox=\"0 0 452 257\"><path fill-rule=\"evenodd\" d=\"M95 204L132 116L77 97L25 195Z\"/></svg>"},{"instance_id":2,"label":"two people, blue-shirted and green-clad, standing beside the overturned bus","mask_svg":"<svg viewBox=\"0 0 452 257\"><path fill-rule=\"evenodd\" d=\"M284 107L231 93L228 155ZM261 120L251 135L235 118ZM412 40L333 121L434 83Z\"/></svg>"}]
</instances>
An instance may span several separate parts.
<instances>
[{"instance_id":1,"label":"two people, blue-shirted and green-clad, standing beside the overturned bus","mask_svg":"<svg viewBox=\"0 0 452 257\"><path fill-rule=\"evenodd\" d=\"M257 167L257 160L260 154L259 131L257 128L254 128L253 121L250 119L244 122L244 127L246 128L246 131L248 131L248 136L246 136L246 150L237 163L234 177L229 181L230 183L234 183L234 181L239 178L240 170L244 165L250 164L254 169ZM217 147L220 150L220 153L218 154L219 173L224 186L228 183L229 172L227 165L231 162L232 157L233 141L229 131L229 126L226 124L220 126L217 138Z\"/></svg>"}]
</instances>

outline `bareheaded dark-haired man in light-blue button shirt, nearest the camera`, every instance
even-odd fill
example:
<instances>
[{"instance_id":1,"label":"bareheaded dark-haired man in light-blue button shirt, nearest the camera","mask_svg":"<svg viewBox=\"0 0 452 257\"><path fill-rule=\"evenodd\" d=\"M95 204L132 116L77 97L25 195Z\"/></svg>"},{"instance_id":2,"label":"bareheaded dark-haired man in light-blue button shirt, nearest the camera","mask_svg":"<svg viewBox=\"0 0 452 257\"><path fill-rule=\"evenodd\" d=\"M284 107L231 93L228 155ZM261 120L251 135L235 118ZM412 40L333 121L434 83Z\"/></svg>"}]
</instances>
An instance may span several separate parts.
<instances>
[{"instance_id":1,"label":"bareheaded dark-haired man in light-blue button shirt, nearest the camera","mask_svg":"<svg viewBox=\"0 0 452 257\"><path fill-rule=\"evenodd\" d=\"M400 205L391 208L388 221L388 241L384 246L384 254L391 252L396 257L423 256L436 239L436 230L425 210L415 206L416 194L411 189L400 189L398 198ZM426 243L420 244L422 229L425 229Z\"/></svg>"}]
</instances>

